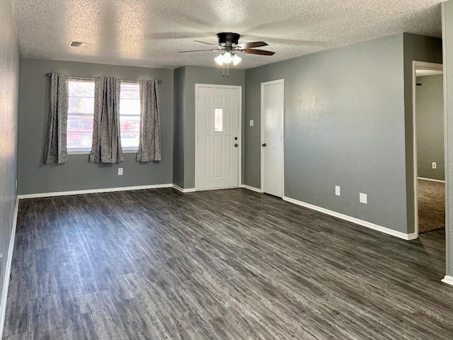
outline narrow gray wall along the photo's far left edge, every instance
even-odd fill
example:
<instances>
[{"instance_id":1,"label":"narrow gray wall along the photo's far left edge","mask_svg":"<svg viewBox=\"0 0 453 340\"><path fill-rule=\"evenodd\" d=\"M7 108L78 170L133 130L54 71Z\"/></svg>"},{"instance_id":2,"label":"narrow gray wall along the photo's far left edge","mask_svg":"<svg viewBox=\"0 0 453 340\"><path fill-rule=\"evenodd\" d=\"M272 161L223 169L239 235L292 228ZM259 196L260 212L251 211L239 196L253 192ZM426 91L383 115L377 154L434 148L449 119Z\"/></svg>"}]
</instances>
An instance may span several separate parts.
<instances>
[{"instance_id":1,"label":"narrow gray wall along the photo's far left edge","mask_svg":"<svg viewBox=\"0 0 453 340\"><path fill-rule=\"evenodd\" d=\"M19 64L11 1L0 0L0 296L16 205Z\"/></svg>"}]
</instances>

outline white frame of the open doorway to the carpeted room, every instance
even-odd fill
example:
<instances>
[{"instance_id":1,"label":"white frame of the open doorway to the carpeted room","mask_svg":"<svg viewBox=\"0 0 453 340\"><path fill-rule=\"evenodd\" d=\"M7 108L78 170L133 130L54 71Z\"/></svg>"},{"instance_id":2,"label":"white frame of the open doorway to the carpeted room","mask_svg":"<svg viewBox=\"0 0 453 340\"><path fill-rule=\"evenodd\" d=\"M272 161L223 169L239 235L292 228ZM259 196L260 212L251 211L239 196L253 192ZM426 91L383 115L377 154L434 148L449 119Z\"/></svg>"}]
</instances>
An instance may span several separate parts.
<instances>
[{"instance_id":1,"label":"white frame of the open doorway to the carpeted room","mask_svg":"<svg viewBox=\"0 0 453 340\"><path fill-rule=\"evenodd\" d=\"M417 122L416 122L416 106L417 106L417 76L416 69L432 69L433 71L444 71L443 64L435 64L432 62L412 62L412 130L413 130L413 206L414 206L414 232L415 239L418 238L418 159L417 159ZM444 77L445 81L445 77ZM445 84L444 93L445 98ZM444 101L445 103L445 101ZM445 181L447 181L447 115L444 105L444 159L445 159ZM447 187L447 182L445 182ZM445 204L445 215L447 215L447 204Z\"/></svg>"}]
</instances>

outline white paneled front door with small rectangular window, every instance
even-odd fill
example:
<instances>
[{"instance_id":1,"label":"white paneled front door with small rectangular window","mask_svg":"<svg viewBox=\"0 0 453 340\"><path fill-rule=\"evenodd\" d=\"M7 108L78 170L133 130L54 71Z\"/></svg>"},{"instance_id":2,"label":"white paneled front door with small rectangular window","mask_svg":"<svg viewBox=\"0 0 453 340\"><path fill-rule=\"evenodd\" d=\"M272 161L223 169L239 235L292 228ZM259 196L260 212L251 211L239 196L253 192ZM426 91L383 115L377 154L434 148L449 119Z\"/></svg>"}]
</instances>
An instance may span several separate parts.
<instances>
[{"instance_id":1,"label":"white paneled front door with small rectangular window","mask_svg":"<svg viewBox=\"0 0 453 340\"><path fill-rule=\"evenodd\" d=\"M197 85L197 190L239 186L240 87Z\"/></svg>"}]
</instances>

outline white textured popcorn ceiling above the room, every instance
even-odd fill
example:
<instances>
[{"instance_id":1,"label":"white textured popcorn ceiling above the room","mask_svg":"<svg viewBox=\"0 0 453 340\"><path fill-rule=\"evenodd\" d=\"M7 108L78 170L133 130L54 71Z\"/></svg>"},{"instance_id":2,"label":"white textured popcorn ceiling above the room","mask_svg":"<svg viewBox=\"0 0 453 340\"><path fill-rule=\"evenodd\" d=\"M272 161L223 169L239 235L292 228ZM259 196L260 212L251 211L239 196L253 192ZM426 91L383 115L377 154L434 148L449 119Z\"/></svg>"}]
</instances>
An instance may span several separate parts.
<instances>
[{"instance_id":1,"label":"white textured popcorn ceiling above the room","mask_svg":"<svg viewBox=\"0 0 453 340\"><path fill-rule=\"evenodd\" d=\"M263 40L273 57L248 69L352 42L416 33L440 37L442 0L13 0L23 57L175 68L213 67L218 32ZM71 40L85 42L69 47Z\"/></svg>"}]
</instances>

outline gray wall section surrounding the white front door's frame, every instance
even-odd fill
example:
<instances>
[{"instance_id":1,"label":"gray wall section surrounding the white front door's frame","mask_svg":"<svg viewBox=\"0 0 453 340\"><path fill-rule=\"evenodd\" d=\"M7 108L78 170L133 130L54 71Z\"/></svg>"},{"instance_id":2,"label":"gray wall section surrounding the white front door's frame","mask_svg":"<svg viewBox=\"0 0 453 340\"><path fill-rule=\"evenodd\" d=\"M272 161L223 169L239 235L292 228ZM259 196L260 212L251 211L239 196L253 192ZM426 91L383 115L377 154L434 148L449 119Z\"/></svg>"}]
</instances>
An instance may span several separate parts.
<instances>
[{"instance_id":1,"label":"gray wall section surrounding the white front door's frame","mask_svg":"<svg viewBox=\"0 0 453 340\"><path fill-rule=\"evenodd\" d=\"M221 67L183 67L184 76L184 188L195 188L195 84L221 84L242 86L242 112L244 108L245 71L229 70L229 77L222 77ZM242 116L243 121L245 115ZM178 118L180 119L180 118ZM242 124L244 126L244 124ZM241 142L241 141L239 141ZM243 145L242 145L243 147ZM244 149L243 149L244 150ZM244 153L244 152L243 152ZM244 155L243 155L244 157ZM243 166L245 166L243 161ZM179 170L178 170L179 171Z\"/></svg>"}]
</instances>

